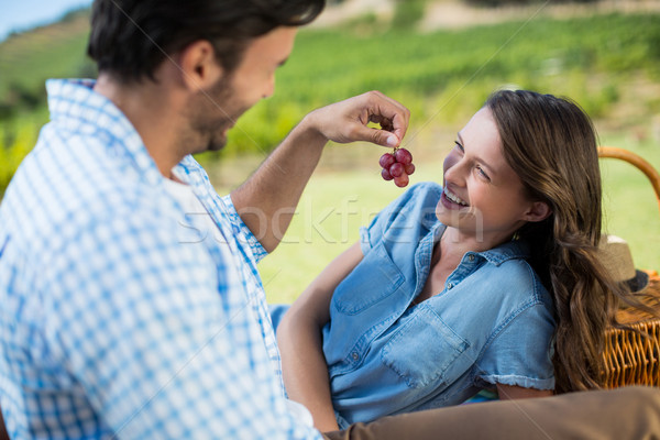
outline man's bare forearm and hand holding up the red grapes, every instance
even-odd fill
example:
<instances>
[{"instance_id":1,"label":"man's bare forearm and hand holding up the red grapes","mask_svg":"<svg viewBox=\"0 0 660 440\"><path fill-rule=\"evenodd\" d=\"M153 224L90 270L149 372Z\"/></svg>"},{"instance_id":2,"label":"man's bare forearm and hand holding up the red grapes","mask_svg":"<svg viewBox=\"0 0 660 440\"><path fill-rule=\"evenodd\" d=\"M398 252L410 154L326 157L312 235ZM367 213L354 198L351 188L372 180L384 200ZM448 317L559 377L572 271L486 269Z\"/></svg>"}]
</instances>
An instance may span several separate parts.
<instances>
[{"instance_id":1,"label":"man's bare forearm and hand holding up the red grapes","mask_svg":"<svg viewBox=\"0 0 660 440\"><path fill-rule=\"evenodd\" d=\"M272 252L282 241L328 141L366 141L395 147L404 139L409 119L408 109L380 91L312 111L256 173L231 193L237 211L264 249ZM370 122L380 123L381 129L367 127Z\"/></svg>"}]
</instances>

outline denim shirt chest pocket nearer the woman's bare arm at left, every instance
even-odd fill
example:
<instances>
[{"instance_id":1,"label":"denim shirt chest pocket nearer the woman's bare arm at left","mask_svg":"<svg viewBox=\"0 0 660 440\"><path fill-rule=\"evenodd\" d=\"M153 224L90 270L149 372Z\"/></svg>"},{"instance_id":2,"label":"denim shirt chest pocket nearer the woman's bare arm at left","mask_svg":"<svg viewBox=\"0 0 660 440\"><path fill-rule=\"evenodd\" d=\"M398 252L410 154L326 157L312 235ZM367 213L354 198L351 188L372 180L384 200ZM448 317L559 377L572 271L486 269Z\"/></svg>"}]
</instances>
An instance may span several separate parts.
<instances>
[{"instance_id":1,"label":"denim shirt chest pocket nearer the woman's bare arm at left","mask_svg":"<svg viewBox=\"0 0 660 440\"><path fill-rule=\"evenodd\" d=\"M373 248L332 295L334 308L344 315L358 315L392 295L404 283L383 243Z\"/></svg>"}]
</instances>

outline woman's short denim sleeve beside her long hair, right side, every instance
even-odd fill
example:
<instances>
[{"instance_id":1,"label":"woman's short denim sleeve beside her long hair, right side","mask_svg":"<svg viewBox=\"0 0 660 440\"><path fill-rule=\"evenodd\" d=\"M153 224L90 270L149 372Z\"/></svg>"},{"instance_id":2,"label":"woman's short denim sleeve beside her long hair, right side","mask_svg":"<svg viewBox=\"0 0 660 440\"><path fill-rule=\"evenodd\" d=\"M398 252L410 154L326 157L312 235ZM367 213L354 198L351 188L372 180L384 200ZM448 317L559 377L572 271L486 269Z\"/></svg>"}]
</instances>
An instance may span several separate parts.
<instances>
[{"instance_id":1,"label":"woman's short denim sleeve beside her long hair, right side","mask_svg":"<svg viewBox=\"0 0 660 440\"><path fill-rule=\"evenodd\" d=\"M553 389L552 334L554 322L547 307L536 302L508 322L476 362L476 383Z\"/></svg>"}]
</instances>

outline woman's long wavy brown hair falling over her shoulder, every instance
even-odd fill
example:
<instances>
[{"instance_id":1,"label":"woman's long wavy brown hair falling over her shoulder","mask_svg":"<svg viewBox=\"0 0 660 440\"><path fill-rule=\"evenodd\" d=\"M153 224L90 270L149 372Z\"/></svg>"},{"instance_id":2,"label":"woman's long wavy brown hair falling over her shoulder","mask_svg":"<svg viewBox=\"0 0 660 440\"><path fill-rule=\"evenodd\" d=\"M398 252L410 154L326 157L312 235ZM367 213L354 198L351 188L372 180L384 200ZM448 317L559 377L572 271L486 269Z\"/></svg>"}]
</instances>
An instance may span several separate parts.
<instances>
[{"instance_id":1,"label":"woman's long wavy brown hair falling over her shoulder","mask_svg":"<svg viewBox=\"0 0 660 440\"><path fill-rule=\"evenodd\" d=\"M556 393L600 388L606 327L626 292L596 256L601 172L596 134L575 103L531 91L497 91L486 101L504 156L529 196L552 215L519 231L530 264L554 299Z\"/></svg>"}]
</instances>

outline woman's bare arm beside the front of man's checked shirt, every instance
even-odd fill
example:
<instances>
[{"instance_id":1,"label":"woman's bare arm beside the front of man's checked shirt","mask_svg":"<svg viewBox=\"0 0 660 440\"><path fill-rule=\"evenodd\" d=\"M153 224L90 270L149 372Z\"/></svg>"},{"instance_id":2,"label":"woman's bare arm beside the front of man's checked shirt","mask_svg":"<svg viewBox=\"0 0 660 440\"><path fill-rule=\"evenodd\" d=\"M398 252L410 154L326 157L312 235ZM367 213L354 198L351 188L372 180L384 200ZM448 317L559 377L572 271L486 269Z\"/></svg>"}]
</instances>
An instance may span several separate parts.
<instances>
[{"instance_id":1,"label":"woman's bare arm beside the front of man's checked shirt","mask_svg":"<svg viewBox=\"0 0 660 440\"><path fill-rule=\"evenodd\" d=\"M332 293L362 260L360 243L334 258L305 289L277 327L284 384L292 400L305 405L320 431L338 430L321 329L330 320Z\"/></svg>"}]
</instances>

